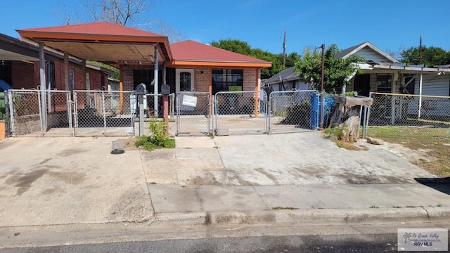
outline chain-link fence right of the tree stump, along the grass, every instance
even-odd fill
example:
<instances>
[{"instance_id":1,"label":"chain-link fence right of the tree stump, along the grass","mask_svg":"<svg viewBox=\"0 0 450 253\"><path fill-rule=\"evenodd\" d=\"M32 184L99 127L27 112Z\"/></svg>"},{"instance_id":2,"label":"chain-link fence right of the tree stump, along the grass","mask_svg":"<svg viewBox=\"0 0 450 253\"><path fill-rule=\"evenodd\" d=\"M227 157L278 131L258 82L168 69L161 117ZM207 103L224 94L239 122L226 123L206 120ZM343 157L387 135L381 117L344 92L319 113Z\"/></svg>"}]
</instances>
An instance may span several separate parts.
<instances>
[{"instance_id":1,"label":"chain-link fence right of the tree stump, along the grass","mask_svg":"<svg viewBox=\"0 0 450 253\"><path fill-rule=\"evenodd\" d=\"M450 97L418 96L392 93L371 93L373 104L368 109L367 134L383 126L398 126L398 131L411 131L411 138L450 136ZM363 119L364 120L364 119ZM378 131L377 130L377 131ZM385 134L395 137L396 131L384 128ZM418 134L418 132L420 132ZM399 135L399 134L397 134ZM404 138L404 137L402 137Z\"/></svg>"}]
</instances>

